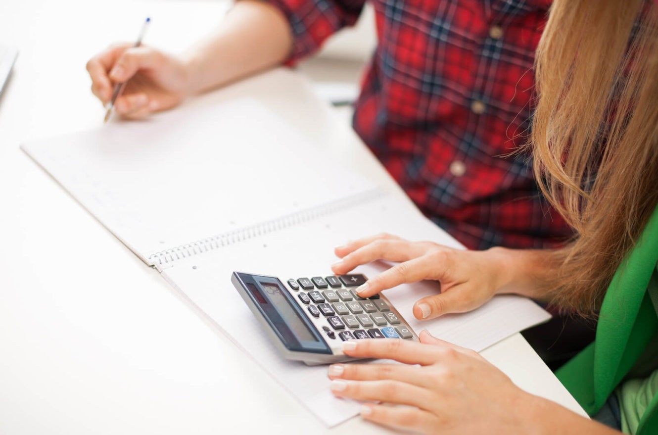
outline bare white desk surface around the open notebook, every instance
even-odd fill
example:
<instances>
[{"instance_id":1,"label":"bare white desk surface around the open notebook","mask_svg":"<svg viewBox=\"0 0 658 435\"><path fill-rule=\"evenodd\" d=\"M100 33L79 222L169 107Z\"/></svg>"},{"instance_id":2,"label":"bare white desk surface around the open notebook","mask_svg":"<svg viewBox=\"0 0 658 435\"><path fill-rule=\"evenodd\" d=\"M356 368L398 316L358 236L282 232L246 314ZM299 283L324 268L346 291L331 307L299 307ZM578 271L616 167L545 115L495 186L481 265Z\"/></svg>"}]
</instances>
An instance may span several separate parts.
<instances>
[{"instance_id":1,"label":"bare white desk surface around the open notebook","mask_svg":"<svg viewBox=\"0 0 658 435\"><path fill-rule=\"evenodd\" d=\"M175 51L225 4L5 2L0 41L20 49L0 97L0 433L384 433L327 429L19 149L98 125L87 59L136 38ZM161 24L162 23L162 24ZM526 390L580 413L517 334L483 355ZM328 386L327 386L328 388Z\"/></svg>"}]
</instances>

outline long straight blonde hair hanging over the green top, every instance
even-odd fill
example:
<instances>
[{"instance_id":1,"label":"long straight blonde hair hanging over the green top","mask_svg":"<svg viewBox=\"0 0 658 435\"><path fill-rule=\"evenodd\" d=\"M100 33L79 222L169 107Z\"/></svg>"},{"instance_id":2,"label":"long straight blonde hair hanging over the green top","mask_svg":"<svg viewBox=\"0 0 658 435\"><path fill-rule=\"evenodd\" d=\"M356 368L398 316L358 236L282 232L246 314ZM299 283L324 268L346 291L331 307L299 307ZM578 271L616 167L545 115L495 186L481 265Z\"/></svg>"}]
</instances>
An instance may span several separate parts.
<instances>
[{"instance_id":1,"label":"long straight blonde hair hanging over the green top","mask_svg":"<svg viewBox=\"0 0 658 435\"><path fill-rule=\"evenodd\" d=\"M642 0L556 0L536 60L535 176L576 230L555 302L591 315L658 203L658 27Z\"/></svg>"}]
</instances>

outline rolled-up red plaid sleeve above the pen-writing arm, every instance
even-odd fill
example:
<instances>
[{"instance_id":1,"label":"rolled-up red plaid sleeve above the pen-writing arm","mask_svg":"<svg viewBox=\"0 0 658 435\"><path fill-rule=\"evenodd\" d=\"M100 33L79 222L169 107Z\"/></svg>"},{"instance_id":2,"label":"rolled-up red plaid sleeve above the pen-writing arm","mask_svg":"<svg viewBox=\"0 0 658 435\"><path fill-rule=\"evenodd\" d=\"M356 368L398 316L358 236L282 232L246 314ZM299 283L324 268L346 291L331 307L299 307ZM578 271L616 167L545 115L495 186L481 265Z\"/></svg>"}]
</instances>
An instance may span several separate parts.
<instances>
[{"instance_id":1,"label":"rolled-up red plaid sleeve above the pen-writing arm","mask_svg":"<svg viewBox=\"0 0 658 435\"><path fill-rule=\"evenodd\" d=\"M322 47L329 36L359 19L365 0L266 0L288 19L293 48L287 63L293 63Z\"/></svg>"}]
</instances>

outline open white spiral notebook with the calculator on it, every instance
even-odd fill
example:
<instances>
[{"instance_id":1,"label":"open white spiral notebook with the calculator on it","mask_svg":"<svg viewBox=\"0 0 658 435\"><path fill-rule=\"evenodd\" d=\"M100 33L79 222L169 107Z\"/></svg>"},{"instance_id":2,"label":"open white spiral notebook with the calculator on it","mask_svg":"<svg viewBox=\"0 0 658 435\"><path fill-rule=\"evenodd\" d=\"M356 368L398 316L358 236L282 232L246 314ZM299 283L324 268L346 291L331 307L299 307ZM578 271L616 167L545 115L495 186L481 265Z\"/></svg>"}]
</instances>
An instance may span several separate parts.
<instances>
[{"instance_id":1,"label":"open white spiral notebook with the calculator on it","mask_svg":"<svg viewBox=\"0 0 658 435\"><path fill-rule=\"evenodd\" d=\"M230 283L234 270L326 272L333 247L374 232L460 247L422 216L303 78L274 70L142 122L115 122L22 149L91 215L326 425L356 415L325 367L279 357ZM374 263L358 272L374 275ZM419 322L420 282L386 295L412 328L472 349L547 320L522 297Z\"/></svg>"}]
</instances>

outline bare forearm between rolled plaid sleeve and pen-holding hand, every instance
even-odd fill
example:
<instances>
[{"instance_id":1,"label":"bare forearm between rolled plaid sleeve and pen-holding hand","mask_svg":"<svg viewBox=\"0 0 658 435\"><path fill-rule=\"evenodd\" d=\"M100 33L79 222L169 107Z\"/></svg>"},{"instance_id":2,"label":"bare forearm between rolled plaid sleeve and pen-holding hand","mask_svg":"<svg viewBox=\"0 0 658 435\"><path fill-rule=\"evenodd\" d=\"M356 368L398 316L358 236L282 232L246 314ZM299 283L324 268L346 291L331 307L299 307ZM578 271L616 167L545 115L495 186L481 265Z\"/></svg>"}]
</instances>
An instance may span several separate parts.
<instances>
[{"instance_id":1,"label":"bare forearm between rolled plaid sleeve and pen-holding hand","mask_svg":"<svg viewBox=\"0 0 658 435\"><path fill-rule=\"evenodd\" d=\"M290 24L276 7L240 0L208 38L184 55L188 93L210 90L276 66L292 47Z\"/></svg>"}]
</instances>

